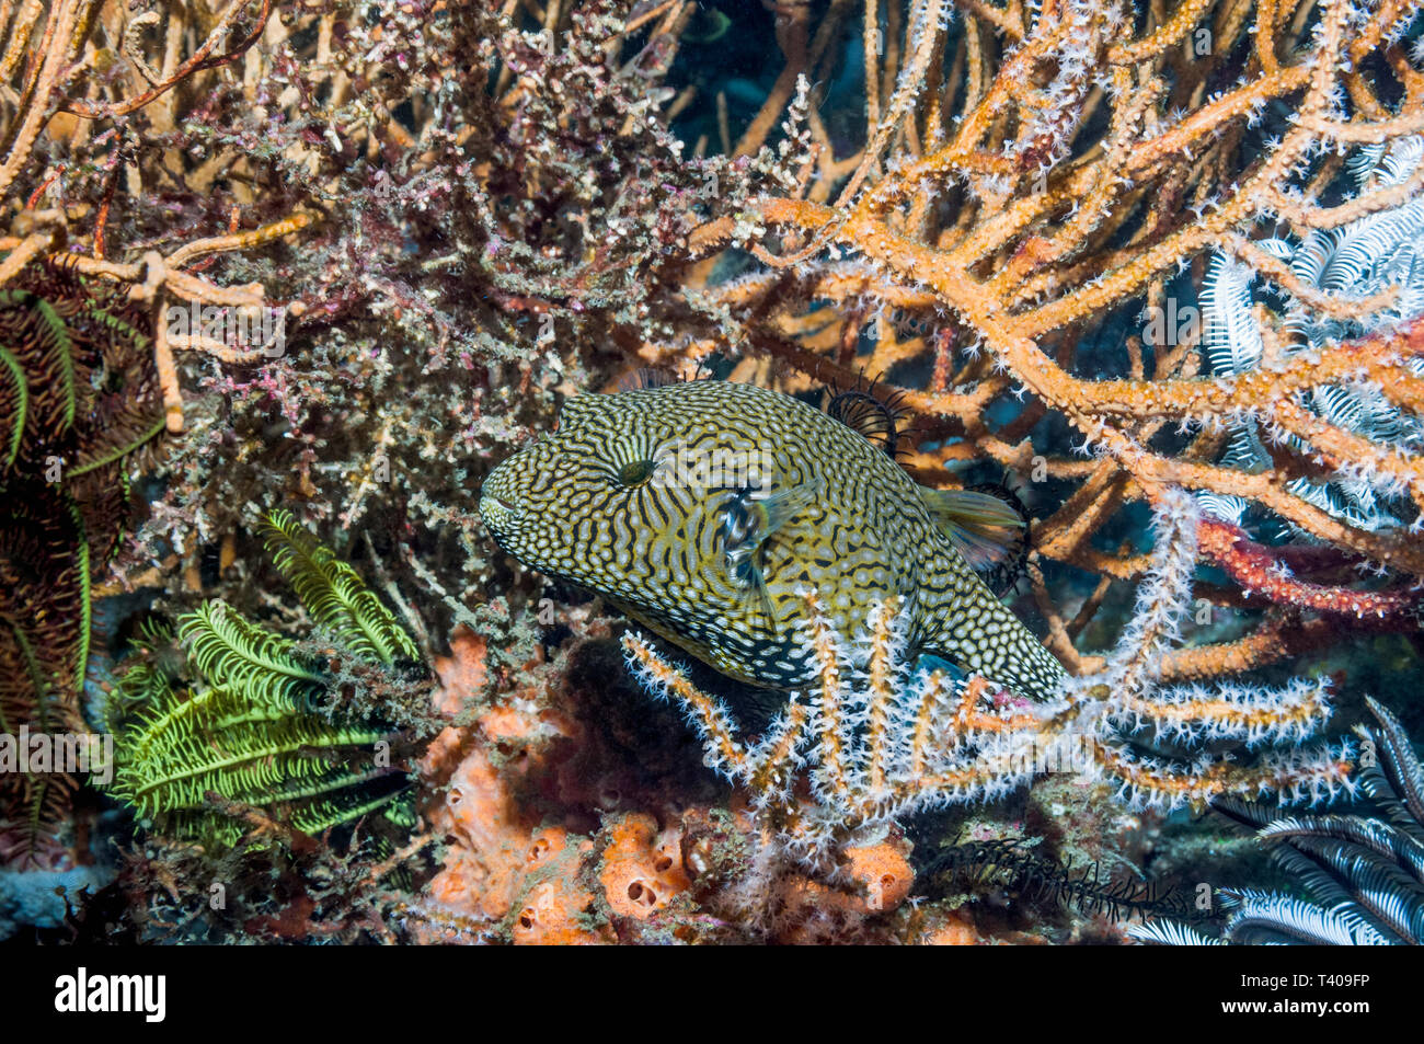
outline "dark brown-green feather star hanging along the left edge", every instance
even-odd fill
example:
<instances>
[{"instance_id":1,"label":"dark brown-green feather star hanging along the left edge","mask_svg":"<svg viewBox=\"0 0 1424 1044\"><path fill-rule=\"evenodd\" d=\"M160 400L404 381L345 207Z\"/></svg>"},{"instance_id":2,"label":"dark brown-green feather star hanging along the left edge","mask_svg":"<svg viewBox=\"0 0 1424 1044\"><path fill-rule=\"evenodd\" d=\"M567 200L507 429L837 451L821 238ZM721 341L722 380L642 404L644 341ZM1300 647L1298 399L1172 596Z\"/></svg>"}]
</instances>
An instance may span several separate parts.
<instances>
[{"instance_id":1,"label":"dark brown-green feather star hanging along the left edge","mask_svg":"<svg viewBox=\"0 0 1424 1044\"><path fill-rule=\"evenodd\" d=\"M88 732L91 583L164 430L147 316L112 286L31 265L0 289L0 734ZM0 866L64 869L64 773L0 772Z\"/></svg>"}]
</instances>

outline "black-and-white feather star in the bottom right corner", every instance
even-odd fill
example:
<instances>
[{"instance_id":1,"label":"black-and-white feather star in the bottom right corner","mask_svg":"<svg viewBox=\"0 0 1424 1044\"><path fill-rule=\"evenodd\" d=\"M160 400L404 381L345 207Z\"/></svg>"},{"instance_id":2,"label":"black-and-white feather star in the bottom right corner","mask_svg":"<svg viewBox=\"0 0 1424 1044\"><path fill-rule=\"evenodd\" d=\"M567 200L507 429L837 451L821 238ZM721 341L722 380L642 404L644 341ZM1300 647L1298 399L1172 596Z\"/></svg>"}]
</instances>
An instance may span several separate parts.
<instances>
[{"instance_id":1,"label":"black-and-white feather star in the bottom right corner","mask_svg":"<svg viewBox=\"0 0 1424 1044\"><path fill-rule=\"evenodd\" d=\"M1377 724L1356 728L1361 785L1380 815L1273 818L1260 805L1219 800L1213 808L1256 830L1276 865L1309 897L1222 889L1230 916L1220 939L1175 922L1128 930L1145 943L1296 943L1418 946L1424 941L1424 771L1398 719L1368 699Z\"/></svg>"}]
</instances>

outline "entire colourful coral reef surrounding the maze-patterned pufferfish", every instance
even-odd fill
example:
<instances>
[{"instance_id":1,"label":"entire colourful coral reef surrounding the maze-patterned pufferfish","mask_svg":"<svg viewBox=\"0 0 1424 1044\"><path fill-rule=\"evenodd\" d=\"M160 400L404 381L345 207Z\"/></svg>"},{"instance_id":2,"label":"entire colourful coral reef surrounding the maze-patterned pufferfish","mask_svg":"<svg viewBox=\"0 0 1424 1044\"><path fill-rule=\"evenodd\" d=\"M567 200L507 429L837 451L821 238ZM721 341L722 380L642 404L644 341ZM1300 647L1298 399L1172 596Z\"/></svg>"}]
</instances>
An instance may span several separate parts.
<instances>
[{"instance_id":1,"label":"entire colourful coral reef surrounding the maze-patterned pufferfish","mask_svg":"<svg viewBox=\"0 0 1424 1044\"><path fill-rule=\"evenodd\" d=\"M1418 667L1418 6L749 7L728 31L691 0L0 6L0 734L108 715L155 828L130 847L112 796L0 776L0 920L1121 941L1175 916L1124 869L1169 809L1354 785L1331 729L1383 669L1361 642ZM646 366L807 403L874 375L893 407L836 409L916 481L1024 503L1005 598L1071 678L1024 705L906 662L884 600L833 647L809 591L820 684L768 708L501 554L484 477ZM181 722L202 743L145 762ZM252 785L209 763L269 726ZM1367 738L1413 765L1400 728ZM403 825L292 815L377 734L409 745ZM1337 819L1273 846L1358 857L1358 924L1417 937L1366 902L1394 835ZM957 845L1010 869L927 872ZM1262 924L1304 923L1267 894ZM1346 930L1333 896L1317 927Z\"/></svg>"}]
</instances>

